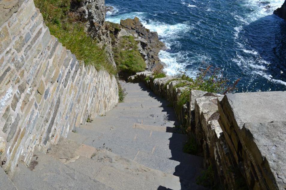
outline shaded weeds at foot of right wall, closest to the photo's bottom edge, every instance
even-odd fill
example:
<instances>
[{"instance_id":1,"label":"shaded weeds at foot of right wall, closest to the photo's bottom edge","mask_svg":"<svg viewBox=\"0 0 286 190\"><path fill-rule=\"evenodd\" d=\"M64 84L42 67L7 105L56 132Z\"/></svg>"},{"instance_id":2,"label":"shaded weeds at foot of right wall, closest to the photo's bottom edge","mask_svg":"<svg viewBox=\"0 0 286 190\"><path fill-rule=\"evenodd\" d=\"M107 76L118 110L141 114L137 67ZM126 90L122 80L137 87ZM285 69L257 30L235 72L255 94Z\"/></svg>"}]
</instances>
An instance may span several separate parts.
<instances>
[{"instance_id":1,"label":"shaded weeds at foot of right wall, closest to the photo's bottom edge","mask_svg":"<svg viewBox=\"0 0 286 190\"><path fill-rule=\"evenodd\" d=\"M215 186L214 171L211 165L201 172L201 175L196 178L196 183L207 188Z\"/></svg>"}]
</instances>

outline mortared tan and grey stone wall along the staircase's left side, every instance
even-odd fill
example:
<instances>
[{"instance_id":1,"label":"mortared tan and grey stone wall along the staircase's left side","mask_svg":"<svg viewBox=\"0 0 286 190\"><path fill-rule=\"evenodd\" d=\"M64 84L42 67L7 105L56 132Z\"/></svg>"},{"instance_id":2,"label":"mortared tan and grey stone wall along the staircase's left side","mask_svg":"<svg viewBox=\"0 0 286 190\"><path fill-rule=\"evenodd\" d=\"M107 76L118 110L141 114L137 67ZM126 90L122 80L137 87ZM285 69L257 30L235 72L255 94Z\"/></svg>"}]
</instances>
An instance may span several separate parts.
<instances>
[{"instance_id":1,"label":"mortared tan and grey stone wall along the staircase's left side","mask_svg":"<svg viewBox=\"0 0 286 190\"><path fill-rule=\"evenodd\" d=\"M0 1L0 158L6 171L118 103L115 76L78 61L32 0Z\"/></svg>"}]
</instances>

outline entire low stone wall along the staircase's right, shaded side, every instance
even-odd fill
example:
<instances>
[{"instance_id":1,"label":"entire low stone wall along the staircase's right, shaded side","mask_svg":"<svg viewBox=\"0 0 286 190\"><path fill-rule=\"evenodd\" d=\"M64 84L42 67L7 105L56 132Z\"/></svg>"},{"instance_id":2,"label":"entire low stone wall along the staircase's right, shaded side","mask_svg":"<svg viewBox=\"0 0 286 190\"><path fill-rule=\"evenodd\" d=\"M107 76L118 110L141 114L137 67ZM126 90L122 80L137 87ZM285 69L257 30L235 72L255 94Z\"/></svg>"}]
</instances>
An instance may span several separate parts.
<instances>
[{"instance_id":1,"label":"entire low stone wall along the staircase's right, shaded side","mask_svg":"<svg viewBox=\"0 0 286 190\"><path fill-rule=\"evenodd\" d=\"M144 81L175 108L181 124L195 135L224 189L286 189L286 92L213 94L192 90L183 107L177 99L186 87L172 77L152 79L152 72L129 77Z\"/></svg>"}]
</instances>

